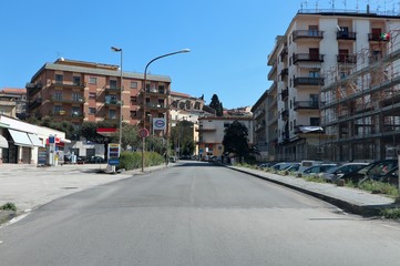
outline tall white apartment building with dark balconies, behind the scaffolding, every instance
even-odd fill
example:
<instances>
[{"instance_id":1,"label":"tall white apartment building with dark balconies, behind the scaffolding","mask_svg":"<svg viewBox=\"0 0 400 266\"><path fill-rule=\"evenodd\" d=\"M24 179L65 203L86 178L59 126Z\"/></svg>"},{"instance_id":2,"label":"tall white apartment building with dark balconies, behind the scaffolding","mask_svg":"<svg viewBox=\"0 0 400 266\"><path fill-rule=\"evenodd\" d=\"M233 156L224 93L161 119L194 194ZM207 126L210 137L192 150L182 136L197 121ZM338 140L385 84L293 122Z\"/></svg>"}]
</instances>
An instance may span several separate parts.
<instances>
[{"instance_id":1,"label":"tall white apartment building with dark balconies, behind the scaffolding","mask_svg":"<svg viewBox=\"0 0 400 266\"><path fill-rule=\"evenodd\" d=\"M389 51L387 37L400 29L400 17L373 12L300 10L268 57L277 85L277 160L320 158L328 139L321 126L321 89L360 70L358 51L373 63ZM363 60L365 61L365 60ZM274 70L276 69L276 70ZM276 73L274 73L276 72Z\"/></svg>"}]
</instances>

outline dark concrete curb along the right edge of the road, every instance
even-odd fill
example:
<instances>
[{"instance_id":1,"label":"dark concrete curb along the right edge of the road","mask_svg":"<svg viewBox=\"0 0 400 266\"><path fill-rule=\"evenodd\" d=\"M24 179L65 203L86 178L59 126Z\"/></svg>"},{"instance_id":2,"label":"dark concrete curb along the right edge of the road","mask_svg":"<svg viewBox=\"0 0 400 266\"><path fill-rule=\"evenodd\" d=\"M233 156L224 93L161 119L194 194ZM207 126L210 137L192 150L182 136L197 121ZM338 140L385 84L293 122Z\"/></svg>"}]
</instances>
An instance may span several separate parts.
<instances>
[{"instance_id":1,"label":"dark concrete curb along the right edge of the road","mask_svg":"<svg viewBox=\"0 0 400 266\"><path fill-rule=\"evenodd\" d=\"M291 185L291 184L288 184L288 183L285 183L285 182L279 182L277 180L273 180L273 178L268 178L266 176L263 176L263 175L258 175L256 173L252 173L249 171L246 171L246 170L242 170L242 168L237 168L237 167L232 167L232 166L226 166L230 170L234 170L234 171L237 171L237 172L242 172L242 173L245 173L245 174L249 174L249 175L253 175L257 178L260 178L260 180L265 180L265 181L268 181L268 182L271 182L271 183L275 183L275 184L278 184L278 185L283 185L283 186L286 186L286 187L289 187L291 190L295 190L295 191L298 191L298 192L301 192L301 193L305 193L307 195L310 195L310 196L314 196L316 198L319 198L319 200L322 200L325 202L328 202L335 206L338 206L339 208L348 212L348 213L352 213L352 214L357 214L357 215L361 215L361 216L365 216L365 217L371 217L371 216L380 216L380 213L383 208L388 208L388 207L398 207L397 204L386 204L386 205L357 205L357 204L353 204L353 203L350 203L350 202L347 202L347 201L343 201L341 198L338 198L338 197L332 197L332 196L327 196L325 194L321 194L319 192L315 192L315 191L311 191L311 190L307 190L307 188L304 188L304 187L299 187L299 186L296 186L296 185Z\"/></svg>"}]
</instances>

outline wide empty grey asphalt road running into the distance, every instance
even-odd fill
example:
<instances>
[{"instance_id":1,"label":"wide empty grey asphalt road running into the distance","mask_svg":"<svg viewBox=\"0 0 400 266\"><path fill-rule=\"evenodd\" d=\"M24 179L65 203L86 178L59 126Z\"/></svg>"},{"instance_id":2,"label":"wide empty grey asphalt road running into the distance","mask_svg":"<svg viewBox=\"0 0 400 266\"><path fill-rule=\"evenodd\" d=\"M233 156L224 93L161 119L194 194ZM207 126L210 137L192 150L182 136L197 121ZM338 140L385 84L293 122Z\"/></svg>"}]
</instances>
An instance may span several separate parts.
<instances>
[{"instance_id":1,"label":"wide empty grey asphalt road running into the distance","mask_svg":"<svg viewBox=\"0 0 400 266\"><path fill-rule=\"evenodd\" d=\"M399 265L400 226L208 163L47 204L0 228L0 265Z\"/></svg>"}]
</instances>

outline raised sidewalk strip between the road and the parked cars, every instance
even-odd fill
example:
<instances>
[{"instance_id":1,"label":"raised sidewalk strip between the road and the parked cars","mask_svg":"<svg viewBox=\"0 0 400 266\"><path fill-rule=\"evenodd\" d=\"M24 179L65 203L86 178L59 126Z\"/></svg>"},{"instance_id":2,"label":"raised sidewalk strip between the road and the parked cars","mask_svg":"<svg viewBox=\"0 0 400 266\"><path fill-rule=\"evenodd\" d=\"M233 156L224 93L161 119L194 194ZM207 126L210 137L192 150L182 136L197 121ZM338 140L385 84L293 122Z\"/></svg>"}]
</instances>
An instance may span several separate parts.
<instances>
[{"instance_id":1,"label":"raised sidewalk strip between the road and the parked cars","mask_svg":"<svg viewBox=\"0 0 400 266\"><path fill-rule=\"evenodd\" d=\"M227 167L318 197L353 214L375 216L379 215L383 207L396 206L393 198L357 188L337 186L329 183L307 182L295 176L284 176L260 170L237 166Z\"/></svg>"}]
</instances>

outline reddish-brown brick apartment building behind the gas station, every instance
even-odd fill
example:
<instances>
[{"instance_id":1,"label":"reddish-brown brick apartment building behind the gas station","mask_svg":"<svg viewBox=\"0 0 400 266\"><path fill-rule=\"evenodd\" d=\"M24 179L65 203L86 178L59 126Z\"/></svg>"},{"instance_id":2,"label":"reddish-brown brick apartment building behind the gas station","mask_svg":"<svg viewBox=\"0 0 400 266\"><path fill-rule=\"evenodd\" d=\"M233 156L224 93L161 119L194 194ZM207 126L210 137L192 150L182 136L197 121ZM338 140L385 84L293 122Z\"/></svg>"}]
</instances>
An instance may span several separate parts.
<instances>
[{"instance_id":1,"label":"reddish-brown brick apartment building behind the gas station","mask_svg":"<svg viewBox=\"0 0 400 266\"><path fill-rule=\"evenodd\" d=\"M121 73L119 65L59 59L27 83L28 113L76 126L83 121L117 123L122 114L123 122L150 130L151 117L168 112L171 79L147 74L145 93L143 83L144 74Z\"/></svg>"}]
</instances>

